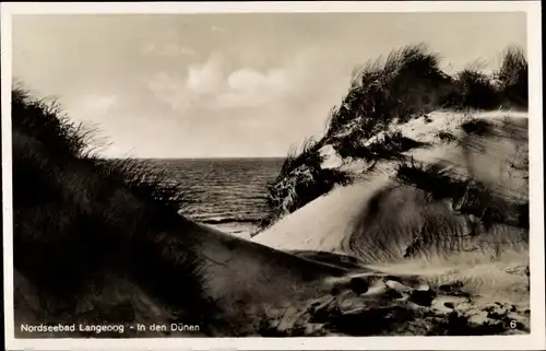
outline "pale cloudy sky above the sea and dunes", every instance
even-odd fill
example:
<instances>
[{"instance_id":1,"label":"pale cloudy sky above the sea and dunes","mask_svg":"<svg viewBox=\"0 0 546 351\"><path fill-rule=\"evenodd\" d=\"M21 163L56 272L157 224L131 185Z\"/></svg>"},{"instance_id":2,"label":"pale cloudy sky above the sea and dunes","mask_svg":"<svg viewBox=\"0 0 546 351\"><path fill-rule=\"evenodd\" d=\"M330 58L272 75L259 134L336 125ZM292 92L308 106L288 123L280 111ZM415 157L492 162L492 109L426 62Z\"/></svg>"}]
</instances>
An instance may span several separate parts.
<instances>
[{"instance_id":1,"label":"pale cloudy sky above the sea and dunes","mask_svg":"<svg viewBox=\"0 0 546 351\"><path fill-rule=\"evenodd\" d=\"M98 130L107 157L284 156L353 70L426 43L448 72L526 49L525 13L13 16L15 79Z\"/></svg>"}]
</instances>

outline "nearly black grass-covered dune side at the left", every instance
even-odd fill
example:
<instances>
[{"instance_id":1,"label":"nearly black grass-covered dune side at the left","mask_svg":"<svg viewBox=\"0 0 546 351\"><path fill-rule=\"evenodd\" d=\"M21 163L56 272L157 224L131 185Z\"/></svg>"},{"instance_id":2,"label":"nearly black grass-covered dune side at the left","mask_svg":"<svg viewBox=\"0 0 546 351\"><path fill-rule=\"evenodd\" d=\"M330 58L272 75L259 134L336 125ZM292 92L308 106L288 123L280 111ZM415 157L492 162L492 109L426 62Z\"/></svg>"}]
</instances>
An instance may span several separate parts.
<instances>
[{"instance_id":1,"label":"nearly black grass-covered dune side at the left","mask_svg":"<svg viewBox=\"0 0 546 351\"><path fill-rule=\"evenodd\" d=\"M12 126L14 284L39 291L35 321L139 321L141 289L168 321L211 326L179 185L143 163L93 156L90 132L22 87L12 91ZM127 282L128 292L100 293ZM15 306L28 294L15 294Z\"/></svg>"}]
</instances>

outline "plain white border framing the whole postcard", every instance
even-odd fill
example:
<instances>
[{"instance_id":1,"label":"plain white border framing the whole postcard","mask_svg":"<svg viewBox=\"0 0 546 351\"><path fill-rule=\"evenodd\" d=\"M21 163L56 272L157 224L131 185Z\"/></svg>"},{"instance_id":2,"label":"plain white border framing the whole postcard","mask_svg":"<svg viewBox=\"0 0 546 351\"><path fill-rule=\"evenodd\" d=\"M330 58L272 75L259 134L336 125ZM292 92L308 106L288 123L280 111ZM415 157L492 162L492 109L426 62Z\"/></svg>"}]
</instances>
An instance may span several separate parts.
<instances>
[{"instance_id":1,"label":"plain white border framing the whole postcard","mask_svg":"<svg viewBox=\"0 0 546 351\"><path fill-rule=\"evenodd\" d=\"M512 12L527 13L530 65L531 330L527 336L492 337L327 337L327 338L191 338L191 339L15 339L13 326L13 242L11 169L11 15L75 13L235 13L235 12ZM542 136L542 40L539 1L414 2L28 2L1 3L2 52L2 192L4 247L4 315L8 350L193 349L240 350L539 350L545 343L544 194Z\"/></svg>"}]
</instances>

